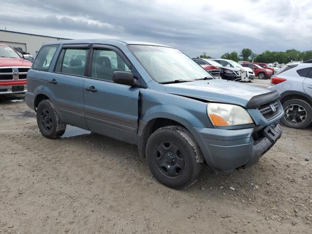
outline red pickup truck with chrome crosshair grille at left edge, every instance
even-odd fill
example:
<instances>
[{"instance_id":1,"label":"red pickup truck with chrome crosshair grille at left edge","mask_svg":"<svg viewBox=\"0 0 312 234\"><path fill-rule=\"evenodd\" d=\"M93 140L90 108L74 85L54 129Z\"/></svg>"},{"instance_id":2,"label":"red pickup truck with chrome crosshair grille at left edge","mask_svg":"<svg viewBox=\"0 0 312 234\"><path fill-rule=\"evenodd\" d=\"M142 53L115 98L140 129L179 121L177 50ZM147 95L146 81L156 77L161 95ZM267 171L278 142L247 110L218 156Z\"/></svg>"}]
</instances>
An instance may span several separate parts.
<instances>
[{"instance_id":1,"label":"red pickup truck with chrome crosshair grille at left edge","mask_svg":"<svg viewBox=\"0 0 312 234\"><path fill-rule=\"evenodd\" d=\"M27 91L27 72L32 62L23 59L10 46L0 44L0 95Z\"/></svg>"}]
</instances>

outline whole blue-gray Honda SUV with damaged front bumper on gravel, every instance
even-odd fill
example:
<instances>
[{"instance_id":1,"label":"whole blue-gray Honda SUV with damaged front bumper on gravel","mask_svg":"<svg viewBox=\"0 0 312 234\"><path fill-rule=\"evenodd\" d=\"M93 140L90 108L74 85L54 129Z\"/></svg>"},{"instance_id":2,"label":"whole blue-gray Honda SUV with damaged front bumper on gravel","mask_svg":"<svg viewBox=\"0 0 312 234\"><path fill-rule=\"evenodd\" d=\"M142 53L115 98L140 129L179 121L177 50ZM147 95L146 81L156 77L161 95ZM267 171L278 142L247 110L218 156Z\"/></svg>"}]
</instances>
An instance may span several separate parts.
<instances>
[{"instance_id":1,"label":"whole blue-gray Honda SUV with damaged front bumper on gravel","mask_svg":"<svg viewBox=\"0 0 312 234\"><path fill-rule=\"evenodd\" d=\"M44 137L66 124L136 144L172 188L203 165L246 168L281 136L279 94L215 79L175 48L119 40L45 43L27 74L26 102Z\"/></svg>"}]
</instances>

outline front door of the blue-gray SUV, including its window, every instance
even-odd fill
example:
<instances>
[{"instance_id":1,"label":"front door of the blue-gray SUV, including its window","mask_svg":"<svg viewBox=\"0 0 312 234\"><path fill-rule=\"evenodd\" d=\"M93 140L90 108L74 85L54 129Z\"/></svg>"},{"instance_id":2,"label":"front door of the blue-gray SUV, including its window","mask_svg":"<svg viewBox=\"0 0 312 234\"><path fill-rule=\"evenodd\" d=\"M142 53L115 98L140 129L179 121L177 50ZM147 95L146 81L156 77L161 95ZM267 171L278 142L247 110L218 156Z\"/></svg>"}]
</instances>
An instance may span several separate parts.
<instances>
[{"instance_id":1,"label":"front door of the blue-gray SUV, including its window","mask_svg":"<svg viewBox=\"0 0 312 234\"><path fill-rule=\"evenodd\" d=\"M90 131L136 142L139 88L113 82L114 71L131 65L114 47L95 47L84 82L84 115Z\"/></svg>"}]
</instances>

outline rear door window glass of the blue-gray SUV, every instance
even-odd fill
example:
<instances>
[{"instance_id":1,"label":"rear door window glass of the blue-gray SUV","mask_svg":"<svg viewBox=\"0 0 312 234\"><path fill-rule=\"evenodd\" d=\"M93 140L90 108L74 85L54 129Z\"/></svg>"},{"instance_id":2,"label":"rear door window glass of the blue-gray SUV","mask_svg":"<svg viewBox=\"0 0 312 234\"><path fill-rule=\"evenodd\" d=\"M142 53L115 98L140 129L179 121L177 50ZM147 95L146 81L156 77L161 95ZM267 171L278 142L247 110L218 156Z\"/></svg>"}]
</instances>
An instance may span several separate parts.
<instances>
[{"instance_id":1,"label":"rear door window glass of the blue-gray SUV","mask_svg":"<svg viewBox=\"0 0 312 234\"><path fill-rule=\"evenodd\" d=\"M84 76L89 49L62 49L55 72Z\"/></svg>"}]
</instances>

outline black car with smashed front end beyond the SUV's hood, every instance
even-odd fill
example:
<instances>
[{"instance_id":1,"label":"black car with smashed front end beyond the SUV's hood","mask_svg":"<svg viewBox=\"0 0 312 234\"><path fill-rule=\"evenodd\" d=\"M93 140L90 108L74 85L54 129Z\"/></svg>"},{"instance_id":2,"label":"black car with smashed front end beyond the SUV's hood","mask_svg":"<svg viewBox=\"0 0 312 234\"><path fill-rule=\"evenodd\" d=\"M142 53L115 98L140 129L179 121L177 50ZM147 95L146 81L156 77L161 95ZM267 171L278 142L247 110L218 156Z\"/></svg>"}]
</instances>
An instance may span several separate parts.
<instances>
[{"instance_id":1,"label":"black car with smashed front end beyond the SUV's hood","mask_svg":"<svg viewBox=\"0 0 312 234\"><path fill-rule=\"evenodd\" d=\"M249 81L249 79L247 78L246 72L243 69L225 67L212 59L193 59L193 60L195 60L197 64L201 63L199 65L201 65L202 67L204 66L204 64L202 64L204 62L206 65L215 66L219 68L220 77L222 79L233 80L233 81Z\"/></svg>"}]
</instances>

